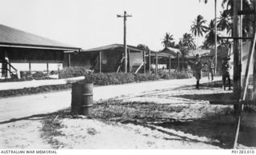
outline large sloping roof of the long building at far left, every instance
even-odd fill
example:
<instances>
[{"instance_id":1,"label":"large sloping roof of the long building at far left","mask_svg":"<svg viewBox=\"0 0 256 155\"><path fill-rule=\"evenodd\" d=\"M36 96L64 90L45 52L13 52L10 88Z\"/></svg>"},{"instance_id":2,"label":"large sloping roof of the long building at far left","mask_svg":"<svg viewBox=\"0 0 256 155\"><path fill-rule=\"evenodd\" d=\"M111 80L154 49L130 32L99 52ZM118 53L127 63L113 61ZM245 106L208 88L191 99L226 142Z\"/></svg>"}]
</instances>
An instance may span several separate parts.
<instances>
[{"instance_id":1,"label":"large sloping roof of the long building at far left","mask_svg":"<svg viewBox=\"0 0 256 155\"><path fill-rule=\"evenodd\" d=\"M59 50L79 50L80 48L66 45L49 38L43 38L36 34L14 29L0 24L0 46L30 47Z\"/></svg>"}]
</instances>

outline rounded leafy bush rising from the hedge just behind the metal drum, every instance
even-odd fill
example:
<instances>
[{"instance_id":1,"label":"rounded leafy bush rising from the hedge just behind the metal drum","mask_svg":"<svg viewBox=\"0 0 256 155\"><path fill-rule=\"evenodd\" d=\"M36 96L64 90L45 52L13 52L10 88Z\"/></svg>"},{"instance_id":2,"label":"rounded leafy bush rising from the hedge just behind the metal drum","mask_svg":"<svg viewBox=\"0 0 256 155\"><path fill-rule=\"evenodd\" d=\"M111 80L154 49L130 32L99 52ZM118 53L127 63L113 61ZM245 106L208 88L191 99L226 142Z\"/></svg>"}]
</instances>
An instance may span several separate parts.
<instances>
[{"instance_id":1,"label":"rounded leafy bush rising from the hedge just behind the metal drum","mask_svg":"<svg viewBox=\"0 0 256 155\"><path fill-rule=\"evenodd\" d=\"M88 74L88 71L85 67L80 66L66 67L60 70L58 76L59 78L74 78Z\"/></svg>"}]
</instances>

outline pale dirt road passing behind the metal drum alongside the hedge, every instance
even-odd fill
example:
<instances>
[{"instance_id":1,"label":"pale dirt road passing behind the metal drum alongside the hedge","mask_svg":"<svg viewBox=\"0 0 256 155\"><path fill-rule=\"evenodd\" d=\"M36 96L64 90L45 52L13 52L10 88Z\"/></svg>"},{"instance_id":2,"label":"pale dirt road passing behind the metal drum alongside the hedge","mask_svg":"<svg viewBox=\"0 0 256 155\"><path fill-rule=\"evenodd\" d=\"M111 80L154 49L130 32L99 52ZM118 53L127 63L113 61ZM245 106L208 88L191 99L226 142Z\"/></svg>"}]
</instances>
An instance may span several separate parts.
<instances>
[{"instance_id":1,"label":"pale dirt road passing behind the metal drum alongside the hedge","mask_svg":"<svg viewBox=\"0 0 256 155\"><path fill-rule=\"evenodd\" d=\"M220 78L215 78L220 80ZM202 78L202 83L208 82ZM94 87L94 101L106 100L111 97L133 95L156 89L173 89L185 85L194 85L195 79L179 79L165 81L148 81L125 85L107 85ZM53 113L70 106L71 91L40 93L20 97L0 98L0 123L35 114Z\"/></svg>"}]
</instances>

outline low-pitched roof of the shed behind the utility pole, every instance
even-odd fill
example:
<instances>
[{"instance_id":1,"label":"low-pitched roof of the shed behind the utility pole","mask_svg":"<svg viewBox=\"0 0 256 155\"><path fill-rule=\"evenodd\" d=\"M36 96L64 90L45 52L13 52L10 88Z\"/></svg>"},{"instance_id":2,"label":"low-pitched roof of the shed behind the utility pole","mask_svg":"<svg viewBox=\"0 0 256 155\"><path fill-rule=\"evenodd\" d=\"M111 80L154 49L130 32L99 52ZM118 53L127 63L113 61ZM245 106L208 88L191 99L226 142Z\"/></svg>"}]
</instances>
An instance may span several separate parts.
<instances>
[{"instance_id":1,"label":"low-pitched roof of the shed behind the utility pole","mask_svg":"<svg viewBox=\"0 0 256 155\"><path fill-rule=\"evenodd\" d=\"M116 49L122 49L122 48L123 48L122 44L112 44L109 46L100 46L100 47L96 47L93 49L81 50L81 52L94 52L94 51L96 52L96 51L101 51L101 50L116 50ZM142 52L141 49L139 49L138 47L135 47L135 46L127 46L127 50Z\"/></svg>"}]
</instances>

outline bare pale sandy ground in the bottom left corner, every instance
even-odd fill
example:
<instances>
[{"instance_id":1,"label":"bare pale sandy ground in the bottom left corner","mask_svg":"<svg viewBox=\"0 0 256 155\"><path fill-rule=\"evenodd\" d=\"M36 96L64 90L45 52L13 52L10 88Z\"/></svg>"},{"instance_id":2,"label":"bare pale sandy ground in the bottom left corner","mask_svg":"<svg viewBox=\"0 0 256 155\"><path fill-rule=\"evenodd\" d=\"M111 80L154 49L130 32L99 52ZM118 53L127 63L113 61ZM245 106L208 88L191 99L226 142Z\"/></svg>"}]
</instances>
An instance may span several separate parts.
<instances>
[{"instance_id":1,"label":"bare pale sandy ground in the bottom left corner","mask_svg":"<svg viewBox=\"0 0 256 155\"><path fill-rule=\"evenodd\" d=\"M1 149L51 149L51 145L42 139L38 120L15 121L0 125Z\"/></svg>"}]
</instances>

